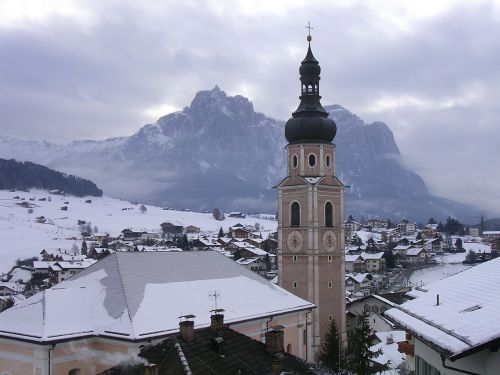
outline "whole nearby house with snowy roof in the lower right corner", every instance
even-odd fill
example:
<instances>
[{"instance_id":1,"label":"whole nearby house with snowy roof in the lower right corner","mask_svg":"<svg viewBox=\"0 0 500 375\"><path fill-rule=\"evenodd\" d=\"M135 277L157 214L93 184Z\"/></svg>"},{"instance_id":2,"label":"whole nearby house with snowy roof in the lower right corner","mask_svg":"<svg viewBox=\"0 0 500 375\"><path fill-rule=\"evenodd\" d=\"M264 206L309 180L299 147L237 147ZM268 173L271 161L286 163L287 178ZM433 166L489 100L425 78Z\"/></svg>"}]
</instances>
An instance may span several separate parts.
<instances>
[{"instance_id":1,"label":"whole nearby house with snowy roof in the lower right corner","mask_svg":"<svg viewBox=\"0 0 500 375\"><path fill-rule=\"evenodd\" d=\"M415 375L498 374L499 270L500 259L471 267L412 290L412 300L385 312L408 333L399 351L413 358Z\"/></svg>"}]
</instances>

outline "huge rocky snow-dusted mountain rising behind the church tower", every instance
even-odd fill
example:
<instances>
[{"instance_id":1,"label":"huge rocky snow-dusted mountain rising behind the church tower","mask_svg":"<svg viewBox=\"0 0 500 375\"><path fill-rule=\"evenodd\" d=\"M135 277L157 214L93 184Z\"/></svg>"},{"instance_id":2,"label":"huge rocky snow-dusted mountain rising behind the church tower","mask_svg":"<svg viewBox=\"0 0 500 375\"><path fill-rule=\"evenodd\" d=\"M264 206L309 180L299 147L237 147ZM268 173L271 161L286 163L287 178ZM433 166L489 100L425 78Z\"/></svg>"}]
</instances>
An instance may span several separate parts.
<instances>
[{"instance_id":1,"label":"huge rocky snow-dusted mountain rising behind the church tower","mask_svg":"<svg viewBox=\"0 0 500 375\"><path fill-rule=\"evenodd\" d=\"M390 129L364 123L339 105L325 109L337 123L337 174L346 214L411 218L471 216L477 210L432 196L401 163ZM182 111L130 137L56 145L0 136L0 156L37 161L97 181L107 195L177 208L274 213L272 188L286 173L284 123L255 112L245 97L215 87Z\"/></svg>"}]
</instances>

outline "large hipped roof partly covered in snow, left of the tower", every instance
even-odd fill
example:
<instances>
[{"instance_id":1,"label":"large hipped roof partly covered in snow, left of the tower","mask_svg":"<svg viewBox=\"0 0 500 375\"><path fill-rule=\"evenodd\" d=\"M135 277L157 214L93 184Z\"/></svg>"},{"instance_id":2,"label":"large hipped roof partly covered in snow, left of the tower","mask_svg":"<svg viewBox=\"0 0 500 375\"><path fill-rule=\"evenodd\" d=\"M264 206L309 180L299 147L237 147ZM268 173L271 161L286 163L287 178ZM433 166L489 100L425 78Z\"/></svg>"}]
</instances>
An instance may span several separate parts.
<instances>
[{"instance_id":1,"label":"large hipped roof partly covered in snow, left of the tower","mask_svg":"<svg viewBox=\"0 0 500 375\"><path fill-rule=\"evenodd\" d=\"M161 337L186 314L196 315L196 328L208 326L214 290L227 323L314 308L215 251L114 253L0 314L0 336Z\"/></svg>"}]
</instances>

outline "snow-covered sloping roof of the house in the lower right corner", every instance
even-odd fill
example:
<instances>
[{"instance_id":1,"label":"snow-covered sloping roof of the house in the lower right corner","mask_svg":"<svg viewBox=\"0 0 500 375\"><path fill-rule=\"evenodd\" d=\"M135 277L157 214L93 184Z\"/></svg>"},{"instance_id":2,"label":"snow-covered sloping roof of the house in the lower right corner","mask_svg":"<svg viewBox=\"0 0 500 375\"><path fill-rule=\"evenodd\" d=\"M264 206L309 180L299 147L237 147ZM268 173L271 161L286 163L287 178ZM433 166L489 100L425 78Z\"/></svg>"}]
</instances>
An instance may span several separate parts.
<instances>
[{"instance_id":1,"label":"snow-covered sloping roof of the house in the lower right corner","mask_svg":"<svg viewBox=\"0 0 500 375\"><path fill-rule=\"evenodd\" d=\"M399 326L447 355L500 338L500 258L409 293L385 312ZM437 296L439 295L439 304Z\"/></svg>"}]
</instances>

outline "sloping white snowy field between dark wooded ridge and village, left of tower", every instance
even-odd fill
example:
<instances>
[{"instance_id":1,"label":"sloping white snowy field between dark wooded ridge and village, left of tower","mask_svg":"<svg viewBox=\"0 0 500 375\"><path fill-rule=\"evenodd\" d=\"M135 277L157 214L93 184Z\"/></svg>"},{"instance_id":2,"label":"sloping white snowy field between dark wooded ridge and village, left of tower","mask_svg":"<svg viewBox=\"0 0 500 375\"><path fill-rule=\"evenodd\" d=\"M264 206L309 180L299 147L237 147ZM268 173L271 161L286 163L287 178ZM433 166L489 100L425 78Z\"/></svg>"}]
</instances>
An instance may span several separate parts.
<instances>
[{"instance_id":1,"label":"sloping white snowy field between dark wooded ridge and village, left of tower","mask_svg":"<svg viewBox=\"0 0 500 375\"><path fill-rule=\"evenodd\" d=\"M19 199L14 199L15 196ZM92 202L86 203L89 199ZM19 205L23 202L31 204L33 212ZM67 211L61 210L63 206L68 207ZM146 212L141 213L139 206L109 197L78 198L42 190L0 190L0 274L9 271L16 259L39 256L43 249L49 252L59 248L69 251L73 244L80 248L78 220L90 221L92 228L97 227L99 233L109 233L113 237L125 228L160 232L160 224L165 221L180 223L184 227L194 225L202 232L217 232L221 226L227 231L237 223L253 225L256 222L263 232L268 232L275 231L278 225L274 220L229 218L227 214L224 221L217 221L211 212L163 210L148 205ZM45 217L45 224L36 222L39 216Z\"/></svg>"}]
</instances>

